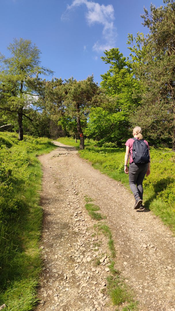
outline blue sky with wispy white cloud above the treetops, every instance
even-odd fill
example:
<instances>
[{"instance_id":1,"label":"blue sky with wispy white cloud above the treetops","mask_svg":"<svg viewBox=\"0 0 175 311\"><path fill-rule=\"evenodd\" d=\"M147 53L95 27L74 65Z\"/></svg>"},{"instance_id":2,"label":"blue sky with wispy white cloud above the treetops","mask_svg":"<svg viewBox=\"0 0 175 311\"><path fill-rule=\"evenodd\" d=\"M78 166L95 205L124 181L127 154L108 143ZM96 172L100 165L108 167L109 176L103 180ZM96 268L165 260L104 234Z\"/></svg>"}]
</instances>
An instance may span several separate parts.
<instances>
[{"instance_id":1,"label":"blue sky with wispy white cloud above the treetops","mask_svg":"<svg viewBox=\"0 0 175 311\"><path fill-rule=\"evenodd\" d=\"M54 76L77 80L108 70L104 49L119 48L125 56L127 35L147 33L140 14L150 0L1 0L0 51L7 55L13 38L30 39L41 50L41 62ZM156 7L163 0L152 0ZM3 14L2 14L3 13Z\"/></svg>"}]
</instances>

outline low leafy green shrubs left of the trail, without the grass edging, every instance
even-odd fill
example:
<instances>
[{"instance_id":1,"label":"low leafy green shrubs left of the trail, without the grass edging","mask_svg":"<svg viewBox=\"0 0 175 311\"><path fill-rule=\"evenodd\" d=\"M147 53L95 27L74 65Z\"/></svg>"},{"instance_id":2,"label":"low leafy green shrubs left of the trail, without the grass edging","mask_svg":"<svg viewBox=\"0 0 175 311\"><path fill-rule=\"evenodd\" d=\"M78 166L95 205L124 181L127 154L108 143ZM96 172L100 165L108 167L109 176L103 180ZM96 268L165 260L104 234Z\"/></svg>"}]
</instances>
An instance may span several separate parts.
<instances>
[{"instance_id":1,"label":"low leafy green shrubs left of the trail, without the grass edging","mask_svg":"<svg viewBox=\"0 0 175 311\"><path fill-rule=\"evenodd\" d=\"M0 218L8 219L18 215L23 207L18 193L30 180L32 173L27 167L32 164L29 153L51 145L47 140L25 136L18 141L14 134L0 134Z\"/></svg>"}]
</instances>

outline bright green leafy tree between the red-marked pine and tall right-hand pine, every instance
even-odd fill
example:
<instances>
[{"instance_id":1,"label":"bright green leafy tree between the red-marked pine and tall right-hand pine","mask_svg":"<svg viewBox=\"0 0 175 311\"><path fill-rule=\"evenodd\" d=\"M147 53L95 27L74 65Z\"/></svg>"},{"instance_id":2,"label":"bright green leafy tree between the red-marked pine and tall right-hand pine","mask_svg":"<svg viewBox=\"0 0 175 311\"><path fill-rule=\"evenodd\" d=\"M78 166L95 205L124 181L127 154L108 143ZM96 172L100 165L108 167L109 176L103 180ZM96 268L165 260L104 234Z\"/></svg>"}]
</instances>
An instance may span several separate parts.
<instances>
[{"instance_id":1,"label":"bright green leafy tree between the red-marked pine and tall right-hand pine","mask_svg":"<svg viewBox=\"0 0 175 311\"><path fill-rule=\"evenodd\" d=\"M130 63L118 48L106 50L104 54L102 60L110 64L109 70L101 75L100 84L106 96L102 95L100 108L90 110L86 134L97 139L99 144L113 142L120 146L122 140L128 138L129 113L140 102L139 96L134 94L139 84L133 77Z\"/></svg>"}]
</instances>

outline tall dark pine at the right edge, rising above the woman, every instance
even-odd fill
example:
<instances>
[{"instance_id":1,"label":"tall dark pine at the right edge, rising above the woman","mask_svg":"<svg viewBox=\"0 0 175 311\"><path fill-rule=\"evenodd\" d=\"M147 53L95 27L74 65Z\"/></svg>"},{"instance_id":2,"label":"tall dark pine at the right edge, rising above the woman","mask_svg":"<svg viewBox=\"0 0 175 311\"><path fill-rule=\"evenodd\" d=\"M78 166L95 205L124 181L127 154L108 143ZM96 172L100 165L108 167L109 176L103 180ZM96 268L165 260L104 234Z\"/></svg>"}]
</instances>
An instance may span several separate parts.
<instances>
[{"instance_id":1,"label":"tall dark pine at the right edge, rising above the woman","mask_svg":"<svg viewBox=\"0 0 175 311\"><path fill-rule=\"evenodd\" d=\"M162 141L168 137L175 151L175 1L145 9L144 26L149 34L142 40L142 61L136 68L142 84L141 106L134 114L147 137Z\"/></svg>"}]
</instances>

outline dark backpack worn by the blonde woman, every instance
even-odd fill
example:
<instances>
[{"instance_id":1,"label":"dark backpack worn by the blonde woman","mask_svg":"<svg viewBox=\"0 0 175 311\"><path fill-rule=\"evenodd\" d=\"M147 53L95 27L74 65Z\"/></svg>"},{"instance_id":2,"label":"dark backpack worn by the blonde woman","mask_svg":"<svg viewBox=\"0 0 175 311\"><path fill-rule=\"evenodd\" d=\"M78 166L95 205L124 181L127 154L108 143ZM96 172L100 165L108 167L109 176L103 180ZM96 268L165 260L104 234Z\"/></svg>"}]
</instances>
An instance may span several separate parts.
<instances>
[{"instance_id":1,"label":"dark backpack worn by the blonde woman","mask_svg":"<svg viewBox=\"0 0 175 311\"><path fill-rule=\"evenodd\" d=\"M145 164L150 162L149 149L143 139L134 139L132 145L132 159L135 164Z\"/></svg>"}]
</instances>

